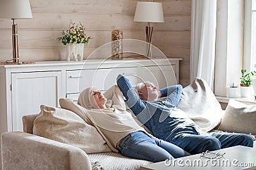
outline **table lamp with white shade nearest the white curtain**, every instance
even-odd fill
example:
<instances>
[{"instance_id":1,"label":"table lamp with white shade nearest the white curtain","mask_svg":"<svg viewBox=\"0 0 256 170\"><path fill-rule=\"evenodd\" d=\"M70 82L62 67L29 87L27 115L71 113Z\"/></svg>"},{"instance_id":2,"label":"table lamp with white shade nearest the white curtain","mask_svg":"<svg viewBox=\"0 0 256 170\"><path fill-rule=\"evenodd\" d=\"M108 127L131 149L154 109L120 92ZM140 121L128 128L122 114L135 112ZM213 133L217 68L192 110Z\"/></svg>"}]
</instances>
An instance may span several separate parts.
<instances>
[{"instance_id":1,"label":"table lamp with white shade nearest the white curtain","mask_svg":"<svg viewBox=\"0 0 256 170\"><path fill-rule=\"evenodd\" d=\"M152 22L164 22L162 3L138 2L134 15L134 22L148 22L145 28L147 39L146 57L151 57L150 45L152 42Z\"/></svg>"}]
</instances>

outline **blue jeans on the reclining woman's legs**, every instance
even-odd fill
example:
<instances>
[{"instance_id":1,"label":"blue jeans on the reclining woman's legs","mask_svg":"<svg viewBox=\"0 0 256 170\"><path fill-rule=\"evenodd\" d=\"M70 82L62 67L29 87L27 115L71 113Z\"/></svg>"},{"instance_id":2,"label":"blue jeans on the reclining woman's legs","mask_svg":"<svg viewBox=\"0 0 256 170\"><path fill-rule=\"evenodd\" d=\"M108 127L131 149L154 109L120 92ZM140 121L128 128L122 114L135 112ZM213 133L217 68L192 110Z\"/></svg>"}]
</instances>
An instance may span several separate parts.
<instances>
[{"instance_id":1,"label":"blue jeans on the reclining woman's legs","mask_svg":"<svg viewBox=\"0 0 256 170\"><path fill-rule=\"evenodd\" d=\"M161 162L166 159L190 155L178 146L147 134L143 131L132 132L120 140L119 150L125 157Z\"/></svg>"}]
</instances>

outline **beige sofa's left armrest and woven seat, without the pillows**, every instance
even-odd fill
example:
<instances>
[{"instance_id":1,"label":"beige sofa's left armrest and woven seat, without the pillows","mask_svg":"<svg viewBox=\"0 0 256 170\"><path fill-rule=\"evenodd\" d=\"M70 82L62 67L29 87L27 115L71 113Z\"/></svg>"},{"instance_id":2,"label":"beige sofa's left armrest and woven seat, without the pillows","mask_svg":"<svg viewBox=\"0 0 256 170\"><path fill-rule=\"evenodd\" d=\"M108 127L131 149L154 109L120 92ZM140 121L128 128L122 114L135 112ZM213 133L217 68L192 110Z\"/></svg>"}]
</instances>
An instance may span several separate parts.
<instances>
[{"instance_id":1,"label":"beige sofa's left armrest and woven seat, without the pillows","mask_svg":"<svg viewBox=\"0 0 256 170\"><path fill-rule=\"evenodd\" d=\"M115 152L87 154L76 146L35 136L33 121L37 116L23 117L24 132L2 135L3 169L139 169L152 163Z\"/></svg>"}]
</instances>

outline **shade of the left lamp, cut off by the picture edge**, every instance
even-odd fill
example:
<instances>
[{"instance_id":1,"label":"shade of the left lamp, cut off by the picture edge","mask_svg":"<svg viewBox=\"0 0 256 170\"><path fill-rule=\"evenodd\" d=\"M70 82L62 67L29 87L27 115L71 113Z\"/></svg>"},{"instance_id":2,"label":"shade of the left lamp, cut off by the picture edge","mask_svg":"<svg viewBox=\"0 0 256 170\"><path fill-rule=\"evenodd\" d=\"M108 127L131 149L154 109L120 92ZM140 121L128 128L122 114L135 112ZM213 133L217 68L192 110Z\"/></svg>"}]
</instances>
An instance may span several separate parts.
<instances>
[{"instance_id":1,"label":"shade of the left lamp, cut off by the picture edge","mask_svg":"<svg viewBox=\"0 0 256 170\"><path fill-rule=\"evenodd\" d=\"M0 0L0 18L32 18L29 0Z\"/></svg>"}]
</instances>

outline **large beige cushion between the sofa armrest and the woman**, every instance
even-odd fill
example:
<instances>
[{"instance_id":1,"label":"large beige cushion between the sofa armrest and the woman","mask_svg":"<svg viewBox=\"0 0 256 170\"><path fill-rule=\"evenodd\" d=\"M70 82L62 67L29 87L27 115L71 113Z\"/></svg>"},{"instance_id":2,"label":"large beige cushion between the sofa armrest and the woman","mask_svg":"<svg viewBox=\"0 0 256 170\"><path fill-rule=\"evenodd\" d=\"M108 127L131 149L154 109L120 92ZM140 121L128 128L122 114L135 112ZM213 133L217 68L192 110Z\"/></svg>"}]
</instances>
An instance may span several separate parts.
<instances>
[{"instance_id":1,"label":"large beige cushion between the sofa armrest and the woman","mask_svg":"<svg viewBox=\"0 0 256 170\"><path fill-rule=\"evenodd\" d=\"M33 134L76 146L86 153L111 152L95 127L86 124L76 113L44 105L40 108Z\"/></svg>"}]
</instances>

